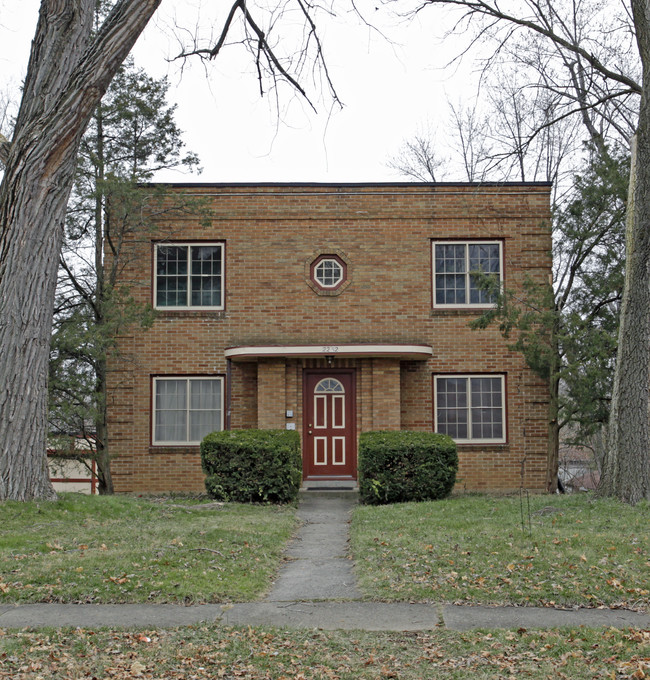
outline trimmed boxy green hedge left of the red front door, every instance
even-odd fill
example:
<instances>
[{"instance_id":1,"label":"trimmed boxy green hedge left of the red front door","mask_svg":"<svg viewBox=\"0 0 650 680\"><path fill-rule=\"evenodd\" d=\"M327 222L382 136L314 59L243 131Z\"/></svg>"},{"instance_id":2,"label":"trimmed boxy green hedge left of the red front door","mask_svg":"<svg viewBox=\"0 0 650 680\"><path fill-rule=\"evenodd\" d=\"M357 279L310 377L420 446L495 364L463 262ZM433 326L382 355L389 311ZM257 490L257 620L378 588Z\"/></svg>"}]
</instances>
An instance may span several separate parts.
<instances>
[{"instance_id":1,"label":"trimmed boxy green hedge left of the red front door","mask_svg":"<svg viewBox=\"0 0 650 680\"><path fill-rule=\"evenodd\" d=\"M213 432L201 442L205 488L237 503L291 503L302 480L300 436L291 430Z\"/></svg>"}]
</instances>

